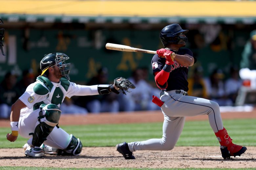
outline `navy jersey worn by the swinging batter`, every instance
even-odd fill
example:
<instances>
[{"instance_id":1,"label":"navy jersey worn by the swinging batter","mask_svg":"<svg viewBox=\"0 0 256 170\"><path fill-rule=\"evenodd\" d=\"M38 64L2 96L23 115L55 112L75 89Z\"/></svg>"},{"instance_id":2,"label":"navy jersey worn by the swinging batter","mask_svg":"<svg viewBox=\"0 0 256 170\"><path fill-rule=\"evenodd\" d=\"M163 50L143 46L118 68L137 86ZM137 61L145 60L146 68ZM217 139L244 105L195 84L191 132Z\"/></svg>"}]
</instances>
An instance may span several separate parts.
<instances>
[{"instance_id":1,"label":"navy jersey worn by the swinging batter","mask_svg":"<svg viewBox=\"0 0 256 170\"><path fill-rule=\"evenodd\" d=\"M172 51L172 50L171 50ZM188 48L180 48L179 51L175 52L179 55L188 54L192 57L193 53ZM196 58L194 57L194 63L196 62ZM155 72L160 72L163 69L163 66L165 65L165 58L158 57L157 54L154 55L151 61L153 74ZM188 66L183 66L179 64L177 61L174 61L171 72L169 75L169 78L167 80L167 88L166 91L170 90L184 90L188 91L188 82L187 82L187 74L188 74Z\"/></svg>"}]
</instances>

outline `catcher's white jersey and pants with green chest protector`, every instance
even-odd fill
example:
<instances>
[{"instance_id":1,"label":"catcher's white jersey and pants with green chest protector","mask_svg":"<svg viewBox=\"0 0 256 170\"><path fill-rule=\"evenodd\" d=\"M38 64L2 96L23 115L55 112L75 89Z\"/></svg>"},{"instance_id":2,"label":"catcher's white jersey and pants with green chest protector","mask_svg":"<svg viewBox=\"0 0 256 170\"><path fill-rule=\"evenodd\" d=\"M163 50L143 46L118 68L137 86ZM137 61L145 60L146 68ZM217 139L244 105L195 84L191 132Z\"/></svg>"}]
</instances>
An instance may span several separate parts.
<instances>
[{"instance_id":1,"label":"catcher's white jersey and pants with green chest protector","mask_svg":"<svg viewBox=\"0 0 256 170\"><path fill-rule=\"evenodd\" d=\"M19 134L24 138L30 138L28 144L32 144L32 133L39 124L38 116L41 104L55 104L60 107L64 98L72 96L96 95L97 85L77 85L65 78L59 83L51 82L45 76L38 76L36 82L30 84L26 92L19 99L27 106L20 112ZM41 119L44 121L44 119ZM71 120L72 121L72 120ZM59 149L67 148L71 136L61 128L54 127L44 144Z\"/></svg>"}]
</instances>

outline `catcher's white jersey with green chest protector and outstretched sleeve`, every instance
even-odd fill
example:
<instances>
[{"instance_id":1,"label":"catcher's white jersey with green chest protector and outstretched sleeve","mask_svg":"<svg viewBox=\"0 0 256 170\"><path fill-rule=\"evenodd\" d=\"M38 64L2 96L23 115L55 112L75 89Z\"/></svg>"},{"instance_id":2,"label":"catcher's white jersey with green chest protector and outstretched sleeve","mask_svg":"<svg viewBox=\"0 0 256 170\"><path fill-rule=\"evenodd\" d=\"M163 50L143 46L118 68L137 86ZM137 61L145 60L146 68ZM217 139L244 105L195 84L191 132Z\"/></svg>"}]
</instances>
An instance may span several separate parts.
<instances>
[{"instance_id":1,"label":"catcher's white jersey with green chest protector and outstretched sleeve","mask_svg":"<svg viewBox=\"0 0 256 170\"><path fill-rule=\"evenodd\" d=\"M55 104L58 107L64 98L72 96L96 95L98 93L98 85L84 86L77 85L61 78L59 83L51 82L47 77L38 76L36 82L30 84L26 92L19 99L27 106L21 109L20 116L24 116L39 108L43 103Z\"/></svg>"}]
</instances>

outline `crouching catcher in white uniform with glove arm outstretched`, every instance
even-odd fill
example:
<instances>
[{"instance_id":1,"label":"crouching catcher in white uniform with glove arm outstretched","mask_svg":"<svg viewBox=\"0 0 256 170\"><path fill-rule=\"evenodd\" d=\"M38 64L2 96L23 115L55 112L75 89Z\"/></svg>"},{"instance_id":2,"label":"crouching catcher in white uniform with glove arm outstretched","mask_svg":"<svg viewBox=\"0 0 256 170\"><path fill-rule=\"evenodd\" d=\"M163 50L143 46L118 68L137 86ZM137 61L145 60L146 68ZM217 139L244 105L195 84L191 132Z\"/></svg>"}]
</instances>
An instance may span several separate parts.
<instances>
[{"instance_id":1,"label":"crouching catcher in white uniform with glove arm outstretched","mask_svg":"<svg viewBox=\"0 0 256 170\"><path fill-rule=\"evenodd\" d=\"M66 96L70 98L74 95L110 92L118 94L119 89L127 91L128 88L135 88L132 83L129 84L129 80L122 77L116 78L114 85L84 86L70 82L70 63L65 62L67 59L69 57L63 53L45 55L40 62L42 75L27 87L26 92L11 107L12 132L7 134L7 139L14 142L18 133L29 138L24 145L26 156L45 156L44 146L57 148L54 152L48 150L47 153L50 154L76 156L81 153L82 143L79 138L58 127L61 114L59 107Z\"/></svg>"}]
</instances>

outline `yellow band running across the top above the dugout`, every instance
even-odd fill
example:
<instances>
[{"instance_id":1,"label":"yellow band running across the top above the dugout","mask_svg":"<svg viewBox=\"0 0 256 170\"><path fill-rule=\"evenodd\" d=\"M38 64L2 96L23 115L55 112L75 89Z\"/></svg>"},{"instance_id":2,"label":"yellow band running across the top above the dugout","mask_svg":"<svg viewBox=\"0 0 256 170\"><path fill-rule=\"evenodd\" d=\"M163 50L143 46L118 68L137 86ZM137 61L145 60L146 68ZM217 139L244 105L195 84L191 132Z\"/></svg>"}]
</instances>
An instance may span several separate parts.
<instances>
[{"instance_id":1,"label":"yellow band running across the top above the dugout","mask_svg":"<svg viewBox=\"0 0 256 170\"><path fill-rule=\"evenodd\" d=\"M0 0L0 14L254 17L256 1Z\"/></svg>"}]
</instances>

